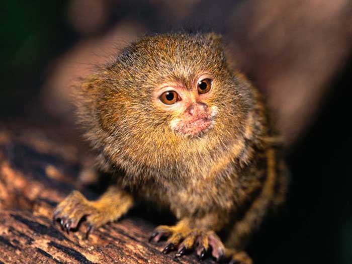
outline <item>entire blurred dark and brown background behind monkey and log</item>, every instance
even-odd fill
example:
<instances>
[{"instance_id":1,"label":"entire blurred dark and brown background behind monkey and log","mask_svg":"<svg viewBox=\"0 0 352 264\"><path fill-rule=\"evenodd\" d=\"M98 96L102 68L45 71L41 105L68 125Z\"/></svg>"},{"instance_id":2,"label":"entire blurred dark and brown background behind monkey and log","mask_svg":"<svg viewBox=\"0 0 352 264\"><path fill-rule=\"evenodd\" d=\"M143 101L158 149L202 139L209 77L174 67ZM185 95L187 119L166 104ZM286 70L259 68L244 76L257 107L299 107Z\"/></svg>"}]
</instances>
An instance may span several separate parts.
<instances>
[{"instance_id":1,"label":"entire blurred dark and brown background behind monkey and log","mask_svg":"<svg viewBox=\"0 0 352 264\"><path fill-rule=\"evenodd\" d=\"M223 35L285 139L288 203L251 244L255 263L352 263L348 0L3 1L0 128L82 151L71 85L138 37L180 29Z\"/></svg>"}]
</instances>

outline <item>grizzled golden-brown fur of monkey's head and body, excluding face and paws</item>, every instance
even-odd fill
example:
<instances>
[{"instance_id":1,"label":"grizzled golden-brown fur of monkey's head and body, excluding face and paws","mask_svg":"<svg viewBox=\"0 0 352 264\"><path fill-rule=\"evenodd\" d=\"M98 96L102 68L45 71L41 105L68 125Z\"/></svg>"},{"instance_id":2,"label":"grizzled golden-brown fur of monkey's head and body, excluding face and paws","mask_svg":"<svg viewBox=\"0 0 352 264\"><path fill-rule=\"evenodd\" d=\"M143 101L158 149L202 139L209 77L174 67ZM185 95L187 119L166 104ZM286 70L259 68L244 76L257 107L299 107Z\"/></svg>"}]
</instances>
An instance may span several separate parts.
<instances>
[{"instance_id":1,"label":"grizzled golden-brown fur of monkey's head and body, excluding face and paws","mask_svg":"<svg viewBox=\"0 0 352 264\"><path fill-rule=\"evenodd\" d=\"M153 91L165 81L189 88L201 73L214 76L207 104L216 115L205 133L182 135L169 125L175 116L153 104ZM284 200L284 163L262 96L230 67L213 33L132 43L77 87L75 102L100 168L124 171L121 188L137 190L135 199L166 207L178 219L194 219L192 228L229 230L228 247L243 248Z\"/></svg>"}]
</instances>

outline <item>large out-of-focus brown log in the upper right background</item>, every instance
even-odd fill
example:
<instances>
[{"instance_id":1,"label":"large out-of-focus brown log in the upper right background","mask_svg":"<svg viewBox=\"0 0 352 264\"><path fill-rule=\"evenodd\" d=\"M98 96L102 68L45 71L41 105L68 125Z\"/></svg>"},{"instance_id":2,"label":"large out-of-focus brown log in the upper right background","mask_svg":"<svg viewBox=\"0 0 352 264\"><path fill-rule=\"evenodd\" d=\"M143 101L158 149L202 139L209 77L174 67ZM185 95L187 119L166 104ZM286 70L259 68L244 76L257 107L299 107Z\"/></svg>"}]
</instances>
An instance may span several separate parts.
<instances>
[{"instance_id":1,"label":"large out-of-focus brown log in the upper right background","mask_svg":"<svg viewBox=\"0 0 352 264\"><path fill-rule=\"evenodd\" d=\"M229 42L291 144L314 122L333 77L352 55L352 2L244 1L231 19Z\"/></svg>"}]
</instances>

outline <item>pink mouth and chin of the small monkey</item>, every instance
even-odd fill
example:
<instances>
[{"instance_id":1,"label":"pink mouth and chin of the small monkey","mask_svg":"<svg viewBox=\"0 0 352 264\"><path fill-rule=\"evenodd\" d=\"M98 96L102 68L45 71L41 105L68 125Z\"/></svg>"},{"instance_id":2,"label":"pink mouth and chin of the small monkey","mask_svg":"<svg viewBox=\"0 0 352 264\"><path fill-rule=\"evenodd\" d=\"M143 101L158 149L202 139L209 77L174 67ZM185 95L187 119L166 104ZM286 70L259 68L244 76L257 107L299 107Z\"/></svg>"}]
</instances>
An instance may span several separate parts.
<instances>
[{"instance_id":1,"label":"pink mouth and chin of the small monkey","mask_svg":"<svg viewBox=\"0 0 352 264\"><path fill-rule=\"evenodd\" d=\"M212 118L203 117L189 120L186 122L179 122L175 131L188 136L197 136L206 132L212 125Z\"/></svg>"}]
</instances>

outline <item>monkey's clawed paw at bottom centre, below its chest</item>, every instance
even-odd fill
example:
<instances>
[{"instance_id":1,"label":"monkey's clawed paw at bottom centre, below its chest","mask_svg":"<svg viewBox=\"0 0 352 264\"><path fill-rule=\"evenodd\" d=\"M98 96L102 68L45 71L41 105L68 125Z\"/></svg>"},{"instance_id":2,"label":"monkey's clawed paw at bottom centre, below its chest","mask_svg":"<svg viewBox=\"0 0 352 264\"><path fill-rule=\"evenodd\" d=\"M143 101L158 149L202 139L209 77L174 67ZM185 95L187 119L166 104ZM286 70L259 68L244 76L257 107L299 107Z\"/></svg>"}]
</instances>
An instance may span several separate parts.
<instances>
[{"instance_id":1,"label":"monkey's clawed paw at bottom centre, below its chest","mask_svg":"<svg viewBox=\"0 0 352 264\"><path fill-rule=\"evenodd\" d=\"M176 257L187 251L195 250L199 259L203 259L211 248L211 254L217 260L224 255L225 246L212 230L193 229L179 222L175 226L161 225L155 228L149 241L158 242L162 237L168 237L162 253L177 250Z\"/></svg>"}]
</instances>

